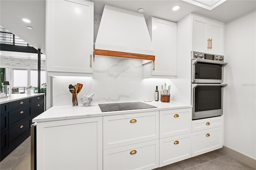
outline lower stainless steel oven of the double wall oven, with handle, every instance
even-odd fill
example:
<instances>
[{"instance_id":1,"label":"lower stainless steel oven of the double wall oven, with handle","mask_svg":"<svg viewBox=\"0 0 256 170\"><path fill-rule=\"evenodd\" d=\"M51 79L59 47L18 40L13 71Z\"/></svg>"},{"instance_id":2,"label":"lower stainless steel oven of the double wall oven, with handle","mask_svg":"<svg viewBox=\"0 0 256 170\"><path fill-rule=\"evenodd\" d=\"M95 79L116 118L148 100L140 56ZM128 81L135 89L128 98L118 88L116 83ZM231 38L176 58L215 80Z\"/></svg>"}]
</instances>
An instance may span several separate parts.
<instances>
[{"instance_id":1,"label":"lower stainless steel oven of the double wall oven, with handle","mask_svg":"<svg viewBox=\"0 0 256 170\"><path fill-rule=\"evenodd\" d=\"M192 119L223 115L223 88L226 86L192 83Z\"/></svg>"}]
</instances>

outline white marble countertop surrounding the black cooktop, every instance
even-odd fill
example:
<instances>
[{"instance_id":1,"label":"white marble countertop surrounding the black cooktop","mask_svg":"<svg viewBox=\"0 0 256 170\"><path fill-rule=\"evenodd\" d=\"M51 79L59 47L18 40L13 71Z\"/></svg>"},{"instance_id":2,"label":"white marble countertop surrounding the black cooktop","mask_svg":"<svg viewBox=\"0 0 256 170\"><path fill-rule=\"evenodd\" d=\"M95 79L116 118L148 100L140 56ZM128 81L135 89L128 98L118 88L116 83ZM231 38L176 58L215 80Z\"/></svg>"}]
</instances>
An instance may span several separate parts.
<instances>
[{"instance_id":1,"label":"white marble countertop surrounding the black cooktop","mask_svg":"<svg viewBox=\"0 0 256 170\"><path fill-rule=\"evenodd\" d=\"M171 101L170 103L161 102L161 101L144 102L144 103L155 106L157 108L102 112L98 104L93 104L88 107L84 107L82 105L55 106L55 107L51 107L50 109L46 110L44 113L35 117L32 120L32 122L35 123L35 122L46 122L46 121L58 121L58 120L65 120L65 119L99 117L99 116L107 116L107 115L120 115L120 114L127 114L127 113L162 111L162 110L169 110L169 109L183 109L183 108L192 107L191 105L185 105L183 103L177 103L173 101Z\"/></svg>"}]
</instances>

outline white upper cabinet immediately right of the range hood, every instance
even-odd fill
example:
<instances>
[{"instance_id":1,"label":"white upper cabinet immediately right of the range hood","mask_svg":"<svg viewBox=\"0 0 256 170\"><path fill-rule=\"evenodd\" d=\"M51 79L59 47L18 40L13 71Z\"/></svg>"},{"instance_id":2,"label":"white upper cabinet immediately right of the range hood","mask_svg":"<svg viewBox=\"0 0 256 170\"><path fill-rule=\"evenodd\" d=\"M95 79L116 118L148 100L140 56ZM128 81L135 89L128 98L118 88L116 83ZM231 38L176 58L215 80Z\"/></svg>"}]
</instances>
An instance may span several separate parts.
<instances>
[{"instance_id":1,"label":"white upper cabinet immediately right of the range hood","mask_svg":"<svg viewBox=\"0 0 256 170\"><path fill-rule=\"evenodd\" d=\"M170 78L177 75L177 24L151 17L147 21L155 61L144 64L144 78ZM171 77L171 78L173 78Z\"/></svg>"}]
</instances>

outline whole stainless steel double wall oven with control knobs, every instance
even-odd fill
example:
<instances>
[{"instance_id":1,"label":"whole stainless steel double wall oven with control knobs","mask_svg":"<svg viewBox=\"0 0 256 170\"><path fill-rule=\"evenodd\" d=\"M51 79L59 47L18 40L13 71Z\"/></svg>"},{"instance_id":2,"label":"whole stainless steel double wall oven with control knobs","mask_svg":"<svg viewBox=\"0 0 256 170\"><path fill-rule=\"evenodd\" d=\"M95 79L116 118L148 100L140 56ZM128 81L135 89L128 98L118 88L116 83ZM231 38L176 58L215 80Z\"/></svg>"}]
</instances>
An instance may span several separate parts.
<instances>
[{"instance_id":1,"label":"whole stainless steel double wall oven with control knobs","mask_svg":"<svg viewBox=\"0 0 256 170\"><path fill-rule=\"evenodd\" d=\"M191 52L192 119L223 115L223 55Z\"/></svg>"}]
</instances>

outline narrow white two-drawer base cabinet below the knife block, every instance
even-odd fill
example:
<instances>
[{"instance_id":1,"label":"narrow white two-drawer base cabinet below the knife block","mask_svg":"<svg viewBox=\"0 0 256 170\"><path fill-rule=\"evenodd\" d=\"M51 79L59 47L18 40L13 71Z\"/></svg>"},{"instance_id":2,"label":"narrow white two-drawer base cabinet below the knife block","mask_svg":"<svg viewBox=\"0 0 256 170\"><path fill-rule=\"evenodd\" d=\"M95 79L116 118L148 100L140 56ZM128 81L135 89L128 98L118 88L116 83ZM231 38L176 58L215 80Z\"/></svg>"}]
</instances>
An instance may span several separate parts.
<instances>
[{"instance_id":1,"label":"narrow white two-drawer base cabinet below the knife block","mask_svg":"<svg viewBox=\"0 0 256 170\"><path fill-rule=\"evenodd\" d=\"M191 120L191 108L160 111L160 167L191 157Z\"/></svg>"}]
</instances>

